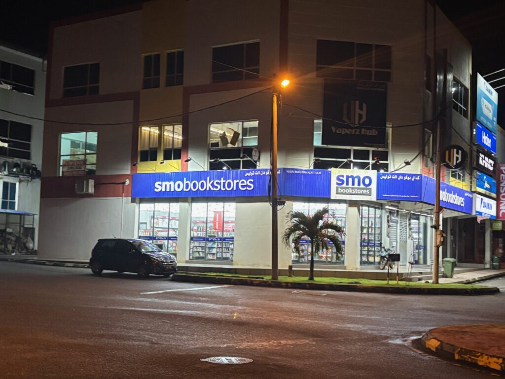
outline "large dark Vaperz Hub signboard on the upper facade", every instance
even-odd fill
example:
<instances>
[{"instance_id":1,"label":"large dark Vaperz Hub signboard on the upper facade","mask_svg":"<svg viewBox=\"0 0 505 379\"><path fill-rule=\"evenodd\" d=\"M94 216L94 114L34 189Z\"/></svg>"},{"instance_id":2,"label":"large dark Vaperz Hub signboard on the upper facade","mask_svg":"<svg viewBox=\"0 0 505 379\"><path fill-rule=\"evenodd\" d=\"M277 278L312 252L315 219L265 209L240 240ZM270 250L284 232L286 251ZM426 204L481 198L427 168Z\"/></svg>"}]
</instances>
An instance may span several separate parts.
<instances>
[{"instance_id":1,"label":"large dark Vaperz Hub signboard on the upper facade","mask_svg":"<svg viewBox=\"0 0 505 379\"><path fill-rule=\"evenodd\" d=\"M386 83L324 81L323 145L386 147Z\"/></svg>"}]
</instances>

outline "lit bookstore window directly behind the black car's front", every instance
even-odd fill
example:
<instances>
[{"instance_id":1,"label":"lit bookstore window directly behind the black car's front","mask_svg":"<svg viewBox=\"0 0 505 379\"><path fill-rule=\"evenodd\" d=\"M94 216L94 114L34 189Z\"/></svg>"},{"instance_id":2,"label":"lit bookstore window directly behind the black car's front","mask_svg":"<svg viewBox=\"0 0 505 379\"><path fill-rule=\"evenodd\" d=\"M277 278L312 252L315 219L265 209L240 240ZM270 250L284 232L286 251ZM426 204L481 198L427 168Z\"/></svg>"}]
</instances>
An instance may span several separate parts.
<instances>
[{"instance_id":1,"label":"lit bookstore window directly behind the black car's front","mask_svg":"<svg viewBox=\"0 0 505 379\"><path fill-rule=\"evenodd\" d=\"M141 203L138 238L177 256L179 203Z\"/></svg>"}]
</instances>

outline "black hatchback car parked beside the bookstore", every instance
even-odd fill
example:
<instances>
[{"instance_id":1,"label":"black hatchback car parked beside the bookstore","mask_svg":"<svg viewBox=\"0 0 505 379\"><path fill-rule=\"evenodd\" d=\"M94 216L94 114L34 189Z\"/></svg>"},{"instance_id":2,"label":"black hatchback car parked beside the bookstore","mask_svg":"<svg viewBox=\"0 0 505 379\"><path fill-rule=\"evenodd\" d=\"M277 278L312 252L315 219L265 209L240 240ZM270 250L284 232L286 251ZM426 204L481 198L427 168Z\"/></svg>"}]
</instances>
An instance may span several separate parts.
<instances>
[{"instance_id":1,"label":"black hatchback car parked beside the bookstore","mask_svg":"<svg viewBox=\"0 0 505 379\"><path fill-rule=\"evenodd\" d=\"M135 239L98 240L89 266L93 274L103 270L136 272L140 277L149 274L169 276L177 272L177 260L150 242Z\"/></svg>"}]
</instances>

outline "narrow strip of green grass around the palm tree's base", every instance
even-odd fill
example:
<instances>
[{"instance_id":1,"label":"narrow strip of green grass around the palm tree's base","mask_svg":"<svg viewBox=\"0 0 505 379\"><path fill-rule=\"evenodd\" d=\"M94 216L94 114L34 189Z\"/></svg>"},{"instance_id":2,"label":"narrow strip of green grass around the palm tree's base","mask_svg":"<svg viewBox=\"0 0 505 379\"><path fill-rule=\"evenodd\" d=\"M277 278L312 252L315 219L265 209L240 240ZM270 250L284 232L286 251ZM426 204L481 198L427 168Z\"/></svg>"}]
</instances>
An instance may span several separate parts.
<instances>
[{"instance_id":1,"label":"narrow strip of green grass around the palm tree's base","mask_svg":"<svg viewBox=\"0 0 505 379\"><path fill-rule=\"evenodd\" d=\"M194 272L189 273L193 275L209 275L209 276L221 276L221 277L232 277L232 278L242 278L242 279L263 279L270 280L272 277L270 275L255 276L255 275L239 275L239 274L229 274L223 272ZM389 280L389 285L386 280L377 279L365 279L365 278L344 278L344 277L316 277L314 280L307 279L306 276L279 276L279 281L284 282L296 282L296 283L324 283L324 284L336 284L336 285L348 285L348 286L383 286L383 287L421 287L421 288L485 288L484 286L477 285L465 285L461 283L425 283L419 281L399 281L396 284L396 280Z\"/></svg>"}]
</instances>

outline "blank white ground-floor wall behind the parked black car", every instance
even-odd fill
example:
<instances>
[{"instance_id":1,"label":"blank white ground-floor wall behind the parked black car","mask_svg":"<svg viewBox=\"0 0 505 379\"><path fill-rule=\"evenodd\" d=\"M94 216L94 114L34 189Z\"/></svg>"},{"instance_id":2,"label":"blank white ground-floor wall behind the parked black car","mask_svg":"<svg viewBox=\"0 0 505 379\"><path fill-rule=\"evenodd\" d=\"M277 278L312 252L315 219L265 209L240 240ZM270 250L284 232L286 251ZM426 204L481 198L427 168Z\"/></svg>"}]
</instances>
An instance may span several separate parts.
<instances>
[{"instance_id":1,"label":"blank white ground-floor wall behind the parked black car","mask_svg":"<svg viewBox=\"0 0 505 379\"><path fill-rule=\"evenodd\" d=\"M122 198L42 199L38 257L87 260L100 238L119 238ZM124 198L123 236L134 236L135 207Z\"/></svg>"}]
</instances>

